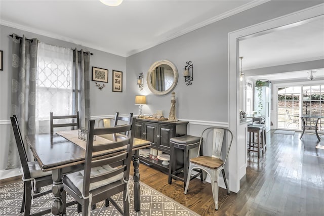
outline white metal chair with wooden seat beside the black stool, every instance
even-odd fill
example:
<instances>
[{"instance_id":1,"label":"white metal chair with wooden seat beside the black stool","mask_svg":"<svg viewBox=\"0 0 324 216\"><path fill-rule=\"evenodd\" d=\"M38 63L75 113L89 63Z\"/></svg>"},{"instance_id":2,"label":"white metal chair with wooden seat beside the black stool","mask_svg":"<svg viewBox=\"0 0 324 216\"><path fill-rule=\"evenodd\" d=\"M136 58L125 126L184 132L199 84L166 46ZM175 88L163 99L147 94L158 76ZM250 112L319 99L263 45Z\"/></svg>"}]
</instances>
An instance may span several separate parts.
<instances>
[{"instance_id":1,"label":"white metal chair with wooden seat beside the black stool","mask_svg":"<svg viewBox=\"0 0 324 216\"><path fill-rule=\"evenodd\" d=\"M226 145L226 142L223 142L225 131L227 131L228 135L229 135L228 146ZM211 178L213 198L214 198L214 202L215 202L215 209L218 210L218 177L219 177L220 172L222 172L222 174L223 174L223 179L224 179L225 186L227 189L227 194L230 193L228 185L227 185L226 176L225 176L224 165L226 163L228 153L229 153L230 147L232 145L233 134L227 128L208 127L203 131L203 133L201 133L199 151L200 151L200 145L202 145L203 136L205 134L207 136L209 134L209 132L213 132L212 156L199 156L199 152L198 152L197 157L191 158L189 160L189 171L188 171L187 183L186 183L186 187L184 190L184 194L187 194L187 191L189 188L191 171L193 169L202 169L203 176L204 176L204 180L203 180L204 184L206 182L206 177L207 177L206 174L208 174L209 177ZM207 140L207 139L205 139L205 140ZM221 159L222 147L226 147L226 155L223 160Z\"/></svg>"}]
</instances>

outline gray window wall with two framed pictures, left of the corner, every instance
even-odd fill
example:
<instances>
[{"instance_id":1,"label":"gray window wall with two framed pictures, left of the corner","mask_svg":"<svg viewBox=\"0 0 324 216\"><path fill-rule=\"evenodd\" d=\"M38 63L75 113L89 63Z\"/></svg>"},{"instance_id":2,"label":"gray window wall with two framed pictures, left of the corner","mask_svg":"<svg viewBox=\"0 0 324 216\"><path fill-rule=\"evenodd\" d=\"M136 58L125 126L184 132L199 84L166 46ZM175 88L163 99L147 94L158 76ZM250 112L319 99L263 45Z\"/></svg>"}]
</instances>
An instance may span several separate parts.
<instances>
[{"instance_id":1,"label":"gray window wall with two framed pictures, left of the corner","mask_svg":"<svg viewBox=\"0 0 324 216\"><path fill-rule=\"evenodd\" d=\"M90 57L90 70L92 66L108 69L108 83L105 83L106 87L100 91L94 81L90 83L90 96L91 96L91 115L102 116L112 115L116 111L121 114L130 112L130 108L126 107L126 95L127 95L127 70L126 70L126 58L116 56L110 53L94 50L91 48L83 47L80 45L72 44L42 35L38 35L32 32L22 31L0 25L0 42L1 48L4 52L4 70L0 71L0 170L4 169L7 164L8 143L9 134L11 130L11 124L9 117L11 115L11 50L12 50L12 37L9 34L16 33L20 36L23 34L27 38L38 38L47 44L57 45L66 48L77 48L78 50L84 49L84 51L90 51L94 55ZM112 69L123 71L123 92L112 92ZM91 77L90 77L91 78ZM136 110L137 106L133 105Z\"/></svg>"}]
</instances>

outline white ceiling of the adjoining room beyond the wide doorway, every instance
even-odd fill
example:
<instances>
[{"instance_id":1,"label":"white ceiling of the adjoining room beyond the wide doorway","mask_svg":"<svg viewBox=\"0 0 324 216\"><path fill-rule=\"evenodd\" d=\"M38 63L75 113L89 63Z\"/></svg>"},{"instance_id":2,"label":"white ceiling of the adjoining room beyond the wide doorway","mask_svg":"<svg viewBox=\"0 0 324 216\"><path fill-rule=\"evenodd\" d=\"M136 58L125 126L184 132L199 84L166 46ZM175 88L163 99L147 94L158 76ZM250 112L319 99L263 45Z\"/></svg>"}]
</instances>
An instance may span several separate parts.
<instances>
[{"instance_id":1,"label":"white ceiling of the adjoining room beyond the wide doorway","mask_svg":"<svg viewBox=\"0 0 324 216\"><path fill-rule=\"evenodd\" d=\"M324 59L324 15L266 32L250 35L239 41L242 70ZM324 79L323 68L316 77ZM261 80L289 80L307 77L307 71L251 76Z\"/></svg>"}]
</instances>

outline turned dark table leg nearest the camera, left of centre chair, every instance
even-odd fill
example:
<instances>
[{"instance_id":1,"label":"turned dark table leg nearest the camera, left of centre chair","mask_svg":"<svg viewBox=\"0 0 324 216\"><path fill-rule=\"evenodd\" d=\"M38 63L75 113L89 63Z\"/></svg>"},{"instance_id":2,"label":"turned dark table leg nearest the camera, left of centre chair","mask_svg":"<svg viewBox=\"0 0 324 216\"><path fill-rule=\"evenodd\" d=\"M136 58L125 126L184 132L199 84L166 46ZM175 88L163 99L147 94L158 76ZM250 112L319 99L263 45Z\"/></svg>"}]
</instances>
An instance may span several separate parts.
<instances>
[{"instance_id":1,"label":"turned dark table leg nearest the camera, left of centre chair","mask_svg":"<svg viewBox=\"0 0 324 216\"><path fill-rule=\"evenodd\" d=\"M62 169L52 170L52 193L53 193L53 205L52 205L52 214L53 215L62 215L63 212L63 202L62 202L62 191L63 191L63 182L62 182Z\"/></svg>"}]
</instances>

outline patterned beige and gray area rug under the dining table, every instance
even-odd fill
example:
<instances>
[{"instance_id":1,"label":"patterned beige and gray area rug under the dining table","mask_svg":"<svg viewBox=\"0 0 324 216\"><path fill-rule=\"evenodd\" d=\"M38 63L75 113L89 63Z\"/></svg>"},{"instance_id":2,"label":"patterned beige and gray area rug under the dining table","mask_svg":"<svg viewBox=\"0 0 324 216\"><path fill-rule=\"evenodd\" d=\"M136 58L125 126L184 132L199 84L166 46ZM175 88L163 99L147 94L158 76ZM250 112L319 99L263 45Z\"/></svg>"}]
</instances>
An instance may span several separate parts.
<instances>
[{"instance_id":1,"label":"patterned beige and gray area rug under the dining table","mask_svg":"<svg viewBox=\"0 0 324 216\"><path fill-rule=\"evenodd\" d=\"M130 215L141 216L191 216L198 215L192 210L186 208L180 203L170 199L169 197L161 194L153 188L140 183L141 194L141 210L134 210L134 196L133 196L133 179L130 179ZM51 186L45 187L42 190L48 190ZM23 182L12 183L6 186L0 186L0 215L23 215L20 213L21 202L23 197ZM31 206L31 213L45 210L52 206L52 194L47 194L43 197L34 199ZM67 202L73 199L67 195ZM112 197L117 201L117 204L123 209L123 193L119 193ZM78 214L76 205L67 207L67 215L82 215ZM52 215L51 213L46 215ZM121 215L112 204L105 207L104 201L96 204L96 209L91 210L91 215L94 216L108 216L108 215Z\"/></svg>"}]
</instances>

